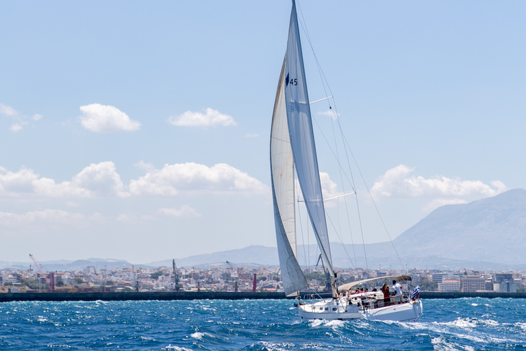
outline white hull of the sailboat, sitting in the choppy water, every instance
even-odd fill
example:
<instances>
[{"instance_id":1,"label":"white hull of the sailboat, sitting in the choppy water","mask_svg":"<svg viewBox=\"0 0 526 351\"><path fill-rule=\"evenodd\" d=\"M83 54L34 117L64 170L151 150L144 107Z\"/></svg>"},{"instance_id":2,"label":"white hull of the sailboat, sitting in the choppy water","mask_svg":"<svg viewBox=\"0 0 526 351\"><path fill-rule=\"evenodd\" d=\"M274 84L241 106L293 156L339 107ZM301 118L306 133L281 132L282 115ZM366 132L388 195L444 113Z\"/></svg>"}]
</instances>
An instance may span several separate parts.
<instances>
[{"instance_id":1,"label":"white hull of the sailboat, sitting in the choppy water","mask_svg":"<svg viewBox=\"0 0 526 351\"><path fill-rule=\"evenodd\" d=\"M348 302L346 298L322 300L318 302L299 304L301 319L369 319L397 322L418 322L422 316L422 302L420 300L390 304L370 301L365 304Z\"/></svg>"}]
</instances>

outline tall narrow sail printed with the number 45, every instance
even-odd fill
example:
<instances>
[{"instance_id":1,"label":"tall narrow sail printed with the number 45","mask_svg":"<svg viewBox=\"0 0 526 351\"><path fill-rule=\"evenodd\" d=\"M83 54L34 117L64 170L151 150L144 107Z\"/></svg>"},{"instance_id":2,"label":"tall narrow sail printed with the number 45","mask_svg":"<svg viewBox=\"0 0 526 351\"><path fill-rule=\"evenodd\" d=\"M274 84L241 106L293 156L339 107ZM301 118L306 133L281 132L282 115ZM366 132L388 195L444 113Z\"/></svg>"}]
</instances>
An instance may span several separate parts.
<instances>
[{"instance_id":1,"label":"tall narrow sail printed with the number 45","mask_svg":"<svg viewBox=\"0 0 526 351\"><path fill-rule=\"evenodd\" d=\"M288 132L298 182L323 260L334 276L295 1L290 14L284 75Z\"/></svg>"}]
</instances>

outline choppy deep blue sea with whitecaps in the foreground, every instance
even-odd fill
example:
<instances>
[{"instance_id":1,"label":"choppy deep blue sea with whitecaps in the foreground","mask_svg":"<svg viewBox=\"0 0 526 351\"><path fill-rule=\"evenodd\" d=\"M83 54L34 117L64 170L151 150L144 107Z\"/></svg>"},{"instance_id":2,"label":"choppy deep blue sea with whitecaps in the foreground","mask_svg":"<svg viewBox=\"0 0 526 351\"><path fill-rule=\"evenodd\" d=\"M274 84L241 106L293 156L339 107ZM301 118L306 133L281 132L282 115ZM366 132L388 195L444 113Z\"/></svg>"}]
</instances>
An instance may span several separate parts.
<instances>
[{"instance_id":1,"label":"choppy deep blue sea with whitecaps in the foreground","mask_svg":"<svg viewBox=\"0 0 526 351\"><path fill-rule=\"evenodd\" d=\"M526 300L423 300L418 323L300 322L293 303L9 302L0 350L526 350Z\"/></svg>"}]
</instances>

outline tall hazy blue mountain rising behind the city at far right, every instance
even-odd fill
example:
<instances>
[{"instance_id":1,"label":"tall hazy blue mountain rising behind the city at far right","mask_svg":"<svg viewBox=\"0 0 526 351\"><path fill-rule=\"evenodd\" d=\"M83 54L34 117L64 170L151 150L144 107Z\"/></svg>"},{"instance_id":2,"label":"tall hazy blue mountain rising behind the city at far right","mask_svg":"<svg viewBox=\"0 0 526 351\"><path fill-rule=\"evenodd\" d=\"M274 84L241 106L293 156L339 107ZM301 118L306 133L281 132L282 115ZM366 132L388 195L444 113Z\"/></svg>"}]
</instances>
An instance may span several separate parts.
<instances>
[{"instance_id":1,"label":"tall hazy blue mountain rising behind the city at far right","mask_svg":"<svg viewBox=\"0 0 526 351\"><path fill-rule=\"evenodd\" d=\"M394 243L403 256L525 265L526 190L439 207Z\"/></svg>"}]
</instances>

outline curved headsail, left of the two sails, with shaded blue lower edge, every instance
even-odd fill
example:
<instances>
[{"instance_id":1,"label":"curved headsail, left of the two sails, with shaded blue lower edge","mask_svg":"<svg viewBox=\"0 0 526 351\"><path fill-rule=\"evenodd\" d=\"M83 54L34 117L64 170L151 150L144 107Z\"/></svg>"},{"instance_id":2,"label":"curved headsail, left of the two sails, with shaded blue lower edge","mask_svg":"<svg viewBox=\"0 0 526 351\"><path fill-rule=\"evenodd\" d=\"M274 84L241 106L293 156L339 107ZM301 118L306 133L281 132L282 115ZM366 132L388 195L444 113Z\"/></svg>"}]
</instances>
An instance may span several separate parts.
<instances>
[{"instance_id":1,"label":"curved headsail, left of the two sails, with shaded blue lower edge","mask_svg":"<svg viewBox=\"0 0 526 351\"><path fill-rule=\"evenodd\" d=\"M297 261L294 161L288 137L284 68L285 62L279 75L272 117L271 178L281 280L286 295L292 295L308 284Z\"/></svg>"}]
</instances>

